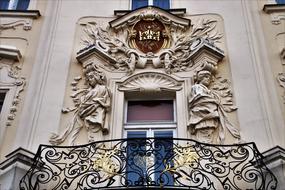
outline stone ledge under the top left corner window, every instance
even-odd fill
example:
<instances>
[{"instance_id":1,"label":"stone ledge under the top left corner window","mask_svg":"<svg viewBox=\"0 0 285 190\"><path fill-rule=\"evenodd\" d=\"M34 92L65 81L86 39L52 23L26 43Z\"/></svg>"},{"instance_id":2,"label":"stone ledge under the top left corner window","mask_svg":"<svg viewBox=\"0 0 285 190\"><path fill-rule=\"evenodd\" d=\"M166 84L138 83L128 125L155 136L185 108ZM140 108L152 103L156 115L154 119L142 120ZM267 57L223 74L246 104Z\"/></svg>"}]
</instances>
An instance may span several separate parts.
<instances>
[{"instance_id":1,"label":"stone ledge under the top left corner window","mask_svg":"<svg viewBox=\"0 0 285 190\"><path fill-rule=\"evenodd\" d=\"M3 10L0 9L0 17L23 17L23 18L32 18L37 19L41 16L39 10Z\"/></svg>"}]
</instances>

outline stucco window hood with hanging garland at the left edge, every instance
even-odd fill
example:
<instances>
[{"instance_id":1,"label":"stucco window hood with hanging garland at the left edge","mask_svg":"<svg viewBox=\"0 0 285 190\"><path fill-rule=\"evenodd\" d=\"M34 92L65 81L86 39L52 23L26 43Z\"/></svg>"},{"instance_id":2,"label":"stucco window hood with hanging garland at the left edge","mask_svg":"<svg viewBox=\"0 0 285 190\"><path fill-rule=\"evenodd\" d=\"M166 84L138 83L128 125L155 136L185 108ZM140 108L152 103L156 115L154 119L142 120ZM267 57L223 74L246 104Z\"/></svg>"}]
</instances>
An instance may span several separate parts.
<instances>
[{"instance_id":1,"label":"stucco window hood with hanging garland at the left edge","mask_svg":"<svg viewBox=\"0 0 285 190\"><path fill-rule=\"evenodd\" d=\"M11 126L16 117L19 95L24 90L26 79L21 76L22 64L19 63L22 57L20 51L15 47L0 47L0 86L2 90L13 91L12 101L8 109L6 126ZM11 98L11 97L10 97Z\"/></svg>"}]
</instances>

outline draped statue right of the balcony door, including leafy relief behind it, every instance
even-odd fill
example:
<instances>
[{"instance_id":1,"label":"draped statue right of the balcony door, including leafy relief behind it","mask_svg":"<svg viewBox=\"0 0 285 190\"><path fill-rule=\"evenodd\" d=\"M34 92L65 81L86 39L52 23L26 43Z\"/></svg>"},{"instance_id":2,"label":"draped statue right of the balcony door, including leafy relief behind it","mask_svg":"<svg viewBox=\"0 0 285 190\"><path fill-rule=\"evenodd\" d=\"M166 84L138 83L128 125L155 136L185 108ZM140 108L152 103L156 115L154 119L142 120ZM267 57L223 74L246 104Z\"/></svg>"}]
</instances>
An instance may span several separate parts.
<instances>
[{"instance_id":1,"label":"draped statue right of the balcony door, including leafy relief behind it","mask_svg":"<svg viewBox=\"0 0 285 190\"><path fill-rule=\"evenodd\" d=\"M215 78L213 72L203 69L194 76L195 84L188 98L188 127L200 142L224 144L226 131L238 142L239 130L226 114L237 109L232 101L229 81Z\"/></svg>"}]
</instances>

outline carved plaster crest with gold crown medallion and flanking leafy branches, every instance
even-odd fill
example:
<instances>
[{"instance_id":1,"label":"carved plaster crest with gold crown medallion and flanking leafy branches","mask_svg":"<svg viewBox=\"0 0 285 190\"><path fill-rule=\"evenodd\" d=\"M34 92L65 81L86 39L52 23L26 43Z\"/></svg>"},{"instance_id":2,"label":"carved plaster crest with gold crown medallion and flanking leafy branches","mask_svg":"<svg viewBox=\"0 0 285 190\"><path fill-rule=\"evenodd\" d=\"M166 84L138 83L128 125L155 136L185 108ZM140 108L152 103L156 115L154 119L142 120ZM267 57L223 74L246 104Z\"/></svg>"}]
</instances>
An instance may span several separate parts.
<instances>
[{"instance_id":1,"label":"carved plaster crest with gold crown medallion and flanking leafy branches","mask_svg":"<svg viewBox=\"0 0 285 190\"><path fill-rule=\"evenodd\" d=\"M84 48L78 55L94 49L107 59L111 69L131 74L136 68L145 68L147 63L154 68L163 67L167 73L193 70L193 55L203 45L223 54L215 45L222 38L216 20L202 18L191 29L178 27L157 15L158 12L148 14L146 21L140 17L142 20L127 22L128 27L123 31L103 29L95 22L82 24Z\"/></svg>"}]
</instances>

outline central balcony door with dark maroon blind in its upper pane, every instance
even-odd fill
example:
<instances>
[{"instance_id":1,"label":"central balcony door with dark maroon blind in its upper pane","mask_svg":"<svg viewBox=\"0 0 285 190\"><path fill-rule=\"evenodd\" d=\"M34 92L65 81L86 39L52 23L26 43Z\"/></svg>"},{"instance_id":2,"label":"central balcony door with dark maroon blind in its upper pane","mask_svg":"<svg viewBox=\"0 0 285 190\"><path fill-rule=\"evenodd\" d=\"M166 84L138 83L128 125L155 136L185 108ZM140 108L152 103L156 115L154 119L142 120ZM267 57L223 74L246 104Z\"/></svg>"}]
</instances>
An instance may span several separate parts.
<instances>
[{"instance_id":1,"label":"central balcony door with dark maroon blind in its upper pane","mask_svg":"<svg viewBox=\"0 0 285 190\"><path fill-rule=\"evenodd\" d=\"M126 179L130 185L144 185L149 177L153 182L159 183L162 180L166 185L173 185L171 174L161 175L161 173L165 170L165 160L173 155L172 138L176 136L174 102L174 100L127 102L125 136L130 140L127 145ZM153 139L145 139L148 137ZM150 141L152 143L149 143ZM151 158L147 155L149 152L155 152Z\"/></svg>"}]
</instances>

